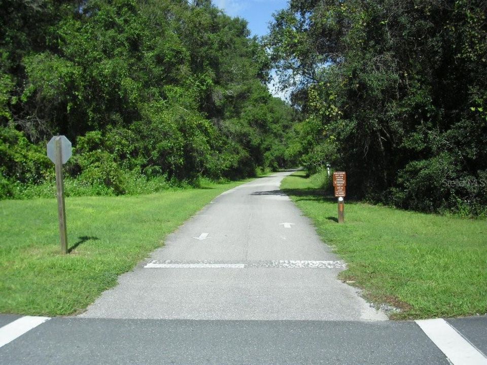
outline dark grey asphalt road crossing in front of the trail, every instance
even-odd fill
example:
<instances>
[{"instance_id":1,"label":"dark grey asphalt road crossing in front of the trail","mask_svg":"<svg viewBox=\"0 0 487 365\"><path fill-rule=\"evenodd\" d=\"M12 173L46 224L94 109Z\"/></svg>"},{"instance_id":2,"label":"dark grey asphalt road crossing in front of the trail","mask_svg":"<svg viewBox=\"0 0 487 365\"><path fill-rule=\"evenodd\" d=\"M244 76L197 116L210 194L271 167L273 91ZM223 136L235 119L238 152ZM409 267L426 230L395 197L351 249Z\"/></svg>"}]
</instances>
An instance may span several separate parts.
<instances>
[{"instance_id":1,"label":"dark grey asphalt road crossing in front of the trail","mask_svg":"<svg viewBox=\"0 0 487 365\"><path fill-rule=\"evenodd\" d=\"M2 330L14 319L10 316L13 322L4 320L8 324L0 328L3 365L487 363L481 353L487 351L487 317L439 319L454 332L446 347L445 342L438 347L412 321L74 317L49 319L1 346Z\"/></svg>"}]
</instances>

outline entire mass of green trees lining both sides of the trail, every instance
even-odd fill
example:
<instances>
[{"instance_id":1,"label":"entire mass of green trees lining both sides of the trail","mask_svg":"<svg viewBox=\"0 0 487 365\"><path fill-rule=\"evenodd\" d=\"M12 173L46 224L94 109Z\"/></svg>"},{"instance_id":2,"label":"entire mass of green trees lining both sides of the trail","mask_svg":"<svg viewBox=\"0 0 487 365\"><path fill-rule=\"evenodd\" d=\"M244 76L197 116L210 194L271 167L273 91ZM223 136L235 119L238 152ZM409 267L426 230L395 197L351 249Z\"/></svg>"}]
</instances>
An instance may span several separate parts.
<instances>
[{"instance_id":1,"label":"entire mass of green trees lining both sides of the trail","mask_svg":"<svg viewBox=\"0 0 487 365\"><path fill-rule=\"evenodd\" d=\"M358 198L485 214L482 0L291 0L263 42L210 0L1 5L0 197L52 180L64 134L103 194L299 161Z\"/></svg>"}]
</instances>

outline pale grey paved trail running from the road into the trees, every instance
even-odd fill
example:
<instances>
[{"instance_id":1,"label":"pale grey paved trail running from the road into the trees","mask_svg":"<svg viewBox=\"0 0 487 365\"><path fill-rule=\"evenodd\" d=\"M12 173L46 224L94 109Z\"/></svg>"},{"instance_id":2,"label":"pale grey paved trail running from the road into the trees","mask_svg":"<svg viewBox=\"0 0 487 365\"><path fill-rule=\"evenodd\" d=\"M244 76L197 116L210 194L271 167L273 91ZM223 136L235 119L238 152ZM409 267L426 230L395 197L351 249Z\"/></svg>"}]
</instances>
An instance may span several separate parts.
<instances>
[{"instance_id":1,"label":"pale grey paved trail running from the road into the trees","mask_svg":"<svg viewBox=\"0 0 487 365\"><path fill-rule=\"evenodd\" d=\"M336 279L344 263L279 190L288 174L217 197L81 317L387 319Z\"/></svg>"}]
</instances>

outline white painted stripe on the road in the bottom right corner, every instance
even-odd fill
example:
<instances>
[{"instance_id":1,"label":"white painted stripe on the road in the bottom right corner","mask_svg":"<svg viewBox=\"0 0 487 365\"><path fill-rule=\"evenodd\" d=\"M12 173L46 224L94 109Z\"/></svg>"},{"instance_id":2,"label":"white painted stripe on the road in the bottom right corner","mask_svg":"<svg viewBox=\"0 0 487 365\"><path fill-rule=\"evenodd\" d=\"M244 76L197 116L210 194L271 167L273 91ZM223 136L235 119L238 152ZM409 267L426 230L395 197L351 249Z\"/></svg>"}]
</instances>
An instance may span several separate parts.
<instances>
[{"instance_id":1,"label":"white painted stripe on the road in the bottom right corner","mask_svg":"<svg viewBox=\"0 0 487 365\"><path fill-rule=\"evenodd\" d=\"M442 318L416 320L453 365L487 365L487 358Z\"/></svg>"}]
</instances>

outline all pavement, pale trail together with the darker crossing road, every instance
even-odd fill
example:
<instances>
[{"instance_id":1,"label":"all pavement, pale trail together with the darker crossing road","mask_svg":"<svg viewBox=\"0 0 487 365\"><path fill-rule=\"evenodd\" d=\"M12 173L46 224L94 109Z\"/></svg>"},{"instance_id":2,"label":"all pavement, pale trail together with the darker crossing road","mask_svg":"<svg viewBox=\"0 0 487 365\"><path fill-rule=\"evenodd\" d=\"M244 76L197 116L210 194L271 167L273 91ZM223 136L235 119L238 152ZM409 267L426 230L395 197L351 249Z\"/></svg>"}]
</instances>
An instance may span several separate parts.
<instances>
[{"instance_id":1,"label":"all pavement, pale trail together with the darker crossing road","mask_svg":"<svg viewBox=\"0 0 487 365\"><path fill-rule=\"evenodd\" d=\"M388 321L279 190L234 188L78 317L0 315L0 364L487 365L487 317Z\"/></svg>"}]
</instances>

